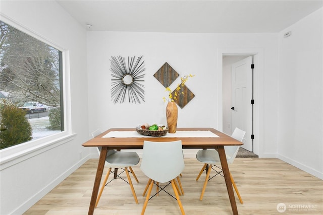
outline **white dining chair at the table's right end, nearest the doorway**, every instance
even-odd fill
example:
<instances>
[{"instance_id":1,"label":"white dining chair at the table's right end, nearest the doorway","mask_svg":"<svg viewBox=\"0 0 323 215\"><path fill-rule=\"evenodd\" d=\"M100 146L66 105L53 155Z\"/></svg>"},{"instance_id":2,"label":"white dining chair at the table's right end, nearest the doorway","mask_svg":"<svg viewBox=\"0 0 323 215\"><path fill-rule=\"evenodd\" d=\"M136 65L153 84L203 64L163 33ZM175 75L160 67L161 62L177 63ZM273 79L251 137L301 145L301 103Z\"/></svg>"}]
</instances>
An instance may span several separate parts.
<instances>
[{"instance_id":1,"label":"white dining chair at the table's right end, nearest the doorway","mask_svg":"<svg viewBox=\"0 0 323 215\"><path fill-rule=\"evenodd\" d=\"M239 128L235 128L235 130L233 131L231 137L239 140L239 141L242 141L244 135L245 135L245 131L239 129ZM237 154L238 154L238 151L239 151L239 148L240 146L225 146L225 152L226 152L226 157L227 157L227 162L228 162L228 165L229 164L232 164L234 159L236 158ZM202 167L201 171L199 172L197 178L196 178L196 181L200 178L201 174L203 173L203 171L205 169L207 169L207 173L206 173L206 177L205 177L205 181L204 181L204 185L203 185L203 188L202 188L202 192L201 192L201 195L200 195L200 200L202 200L203 198L203 195L204 195L204 192L205 192L205 189L206 189L206 185L207 185L207 182L212 179L214 176L217 176L217 175L221 175L223 176L221 173L222 173L222 168L220 167L221 165L221 161L220 161L220 156L219 156L219 153L217 150L199 150L196 154L196 159L202 163L204 163L204 166ZM220 171L217 171L216 169L214 169L213 167L217 167ZM209 175L210 175L210 171L211 170L214 170L217 172L216 175L214 175L213 177L209 178ZM238 195L238 198L240 200L240 203L243 204L243 201L242 201L242 198L240 196L240 193L238 191L238 188L233 180L233 177L230 173L230 179L231 179L231 182L232 182L232 185Z\"/></svg>"}]
</instances>

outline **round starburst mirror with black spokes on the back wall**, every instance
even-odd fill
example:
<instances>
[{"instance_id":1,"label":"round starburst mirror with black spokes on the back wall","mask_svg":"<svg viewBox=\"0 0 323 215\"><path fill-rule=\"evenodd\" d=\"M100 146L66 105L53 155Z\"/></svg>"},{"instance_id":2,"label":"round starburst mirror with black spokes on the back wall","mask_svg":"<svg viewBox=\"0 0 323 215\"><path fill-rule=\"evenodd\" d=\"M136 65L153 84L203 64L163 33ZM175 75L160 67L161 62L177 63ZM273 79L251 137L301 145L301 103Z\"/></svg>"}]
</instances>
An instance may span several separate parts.
<instances>
[{"instance_id":1,"label":"round starburst mirror with black spokes on the back wall","mask_svg":"<svg viewBox=\"0 0 323 215\"><path fill-rule=\"evenodd\" d=\"M145 71L142 56L111 57L111 99L114 103L125 101L139 103L144 100L144 81L143 72Z\"/></svg>"}]
</instances>

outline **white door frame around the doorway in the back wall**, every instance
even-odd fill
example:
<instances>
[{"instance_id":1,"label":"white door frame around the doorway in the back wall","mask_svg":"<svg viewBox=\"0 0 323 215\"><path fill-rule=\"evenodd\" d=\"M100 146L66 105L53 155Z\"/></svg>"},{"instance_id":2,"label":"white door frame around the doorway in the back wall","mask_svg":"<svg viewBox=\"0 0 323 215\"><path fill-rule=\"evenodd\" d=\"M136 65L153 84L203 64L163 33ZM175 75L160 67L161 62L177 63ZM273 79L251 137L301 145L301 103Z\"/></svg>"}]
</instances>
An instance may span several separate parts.
<instances>
[{"instance_id":1,"label":"white door frame around the doorway in the back wall","mask_svg":"<svg viewBox=\"0 0 323 215\"><path fill-rule=\"evenodd\" d=\"M218 49L218 129L223 130L223 56L253 55L253 153L259 155L263 142L263 49L228 48Z\"/></svg>"}]
</instances>

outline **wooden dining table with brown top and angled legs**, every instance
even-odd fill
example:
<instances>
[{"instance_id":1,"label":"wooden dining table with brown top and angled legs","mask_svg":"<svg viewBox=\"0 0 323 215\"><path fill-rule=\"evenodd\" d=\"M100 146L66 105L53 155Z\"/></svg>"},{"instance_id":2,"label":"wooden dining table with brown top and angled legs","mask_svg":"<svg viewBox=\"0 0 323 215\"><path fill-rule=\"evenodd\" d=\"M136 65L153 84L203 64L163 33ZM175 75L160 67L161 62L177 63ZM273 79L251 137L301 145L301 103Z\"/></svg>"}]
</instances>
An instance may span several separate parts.
<instances>
[{"instance_id":1,"label":"wooden dining table with brown top and angled legs","mask_svg":"<svg viewBox=\"0 0 323 215\"><path fill-rule=\"evenodd\" d=\"M102 178L105 158L108 150L123 150L123 149L143 149L144 140L149 141L176 141L182 140L183 149L218 149L221 166L229 199L231 203L232 212L234 215L238 214L237 204L233 193L232 183L230 180L230 171L228 168L227 158L225 154L225 146L241 146L242 142L224 134L214 128L177 128L178 131L211 131L218 135L218 137L169 137L167 134L163 137L113 137L103 138L103 136L111 131L135 131L135 128L111 128L103 133L95 136L94 138L82 144L83 147L102 147L97 165L96 175L94 179L93 191L90 201L88 214L92 215L94 212L95 202Z\"/></svg>"}]
</instances>

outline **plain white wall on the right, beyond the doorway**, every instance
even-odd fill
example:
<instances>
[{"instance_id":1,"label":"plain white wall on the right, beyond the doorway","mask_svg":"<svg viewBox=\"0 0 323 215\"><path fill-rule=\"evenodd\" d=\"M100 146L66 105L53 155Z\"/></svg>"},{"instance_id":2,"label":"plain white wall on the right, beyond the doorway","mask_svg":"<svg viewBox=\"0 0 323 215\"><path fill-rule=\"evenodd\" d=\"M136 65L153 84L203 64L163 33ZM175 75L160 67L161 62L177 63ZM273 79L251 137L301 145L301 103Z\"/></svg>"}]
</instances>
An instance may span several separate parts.
<instances>
[{"instance_id":1,"label":"plain white wall on the right, beyond the doorway","mask_svg":"<svg viewBox=\"0 0 323 215\"><path fill-rule=\"evenodd\" d=\"M279 33L278 157L323 179L322 9ZM290 37L284 33L292 31Z\"/></svg>"}]
</instances>

